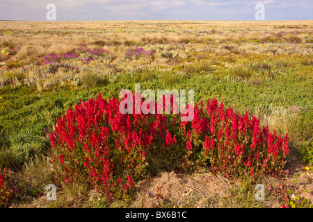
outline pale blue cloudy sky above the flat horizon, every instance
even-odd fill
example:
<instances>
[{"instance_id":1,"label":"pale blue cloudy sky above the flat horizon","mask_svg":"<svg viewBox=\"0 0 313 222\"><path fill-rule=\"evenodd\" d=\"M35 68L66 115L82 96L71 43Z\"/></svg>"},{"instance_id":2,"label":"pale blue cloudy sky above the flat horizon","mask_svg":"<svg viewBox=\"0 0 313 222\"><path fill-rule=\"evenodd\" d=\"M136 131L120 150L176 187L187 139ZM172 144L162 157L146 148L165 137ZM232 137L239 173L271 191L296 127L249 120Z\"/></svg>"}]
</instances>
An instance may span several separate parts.
<instances>
[{"instance_id":1,"label":"pale blue cloudy sky above the flat horizon","mask_svg":"<svg viewBox=\"0 0 313 222\"><path fill-rule=\"evenodd\" d=\"M312 20L313 0L1 0L0 20L45 21L48 3L56 20Z\"/></svg>"}]
</instances>

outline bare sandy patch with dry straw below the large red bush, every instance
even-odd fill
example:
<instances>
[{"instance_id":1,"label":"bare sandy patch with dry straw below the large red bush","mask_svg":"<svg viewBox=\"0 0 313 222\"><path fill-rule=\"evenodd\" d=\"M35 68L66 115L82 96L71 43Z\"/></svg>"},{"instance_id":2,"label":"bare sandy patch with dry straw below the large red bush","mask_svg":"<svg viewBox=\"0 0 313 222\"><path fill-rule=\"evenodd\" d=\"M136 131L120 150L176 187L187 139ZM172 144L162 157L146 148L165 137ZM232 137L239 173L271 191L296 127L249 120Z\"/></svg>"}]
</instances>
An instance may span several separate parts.
<instances>
[{"instance_id":1,"label":"bare sandy patch with dry straw below the large red bush","mask_svg":"<svg viewBox=\"0 0 313 222\"><path fill-rule=\"evenodd\" d=\"M138 182L132 207L219 207L218 200L230 196L233 186L230 180L209 172L190 176L164 172Z\"/></svg>"}]
</instances>

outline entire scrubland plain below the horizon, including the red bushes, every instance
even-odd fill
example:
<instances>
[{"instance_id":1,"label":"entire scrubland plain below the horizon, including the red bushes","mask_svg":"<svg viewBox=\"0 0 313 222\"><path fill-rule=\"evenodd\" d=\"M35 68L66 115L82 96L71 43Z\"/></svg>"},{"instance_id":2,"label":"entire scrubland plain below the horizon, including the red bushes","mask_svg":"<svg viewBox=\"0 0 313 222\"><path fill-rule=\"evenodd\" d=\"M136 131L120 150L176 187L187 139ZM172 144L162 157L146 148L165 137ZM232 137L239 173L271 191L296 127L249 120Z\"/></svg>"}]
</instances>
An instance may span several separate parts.
<instances>
[{"instance_id":1,"label":"entire scrubland plain below the horizon, including the red bushes","mask_svg":"<svg viewBox=\"0 0 313 222\"><path fill-rule=\"evenodd\" d=\"M0 206L312 207L312 28L0 22ZM136 83L195 119L119 115Z\"/></svg>"}]
</instances>

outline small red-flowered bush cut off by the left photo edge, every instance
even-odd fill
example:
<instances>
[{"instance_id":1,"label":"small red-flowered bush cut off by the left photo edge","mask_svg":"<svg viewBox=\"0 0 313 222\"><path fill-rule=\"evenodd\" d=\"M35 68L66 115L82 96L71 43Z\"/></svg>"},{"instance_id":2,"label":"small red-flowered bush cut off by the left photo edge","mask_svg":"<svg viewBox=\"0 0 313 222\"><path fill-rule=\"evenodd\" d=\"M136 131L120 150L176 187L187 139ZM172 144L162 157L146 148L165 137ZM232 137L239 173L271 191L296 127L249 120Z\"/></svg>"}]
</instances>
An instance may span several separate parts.
<instances>
[{"instance_id":1,"label":"small red-flowered bush cut off by the left photo edge","mask_svg":"<svg viewBox=\"0 0 313 222\"><path fill-rule=\"evenodd\" d=\"M6 175L6 169L2 174L0 173L0 207L6 207L8 201L17 193L17 190L12 188L10 173L9 170L8 175Z\"/></svg>"}]
</instances>

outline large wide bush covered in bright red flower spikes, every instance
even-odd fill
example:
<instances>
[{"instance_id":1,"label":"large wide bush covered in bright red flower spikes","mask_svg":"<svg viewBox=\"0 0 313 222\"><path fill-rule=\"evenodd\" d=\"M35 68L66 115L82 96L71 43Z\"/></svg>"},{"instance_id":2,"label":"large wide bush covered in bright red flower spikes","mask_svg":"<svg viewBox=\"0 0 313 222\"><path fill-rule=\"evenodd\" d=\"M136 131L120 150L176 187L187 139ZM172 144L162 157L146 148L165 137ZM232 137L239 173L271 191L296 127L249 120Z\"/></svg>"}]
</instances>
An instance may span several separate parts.
<instances>
[{"instance_id":1,"label":"large wide bush covered in bright red flower spikes","mask_svg":"<svg viewBox=\"0 0 313 222\"><path fill-rule=\"evenodd\" d=\"M57 119L50 133L54 154L50 162L61 167L64 182L84 175L93 189L113 200L131 194L134 180L164 169L186 172L209 167L228 178L253 179L262 173L279 176L284 167L287 135L283 139L269 133L255 117L225 110L216 99L206 106L202 101L195 104L188 122L181 121L181 114L157 110L121 114L119 106L115 97L106 101L99 93L96 100L81 101Z\"/></svg>"}]
</instances>

